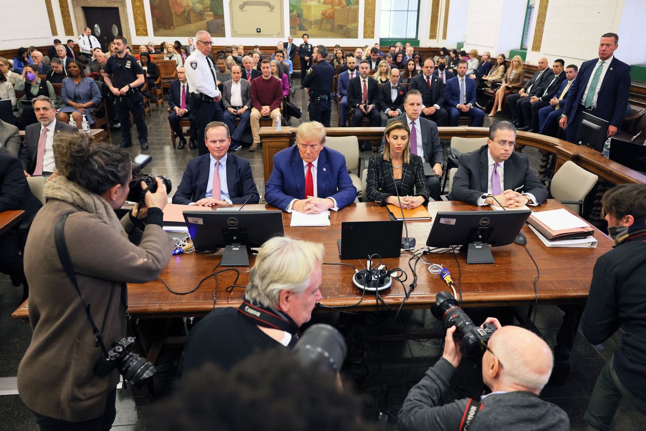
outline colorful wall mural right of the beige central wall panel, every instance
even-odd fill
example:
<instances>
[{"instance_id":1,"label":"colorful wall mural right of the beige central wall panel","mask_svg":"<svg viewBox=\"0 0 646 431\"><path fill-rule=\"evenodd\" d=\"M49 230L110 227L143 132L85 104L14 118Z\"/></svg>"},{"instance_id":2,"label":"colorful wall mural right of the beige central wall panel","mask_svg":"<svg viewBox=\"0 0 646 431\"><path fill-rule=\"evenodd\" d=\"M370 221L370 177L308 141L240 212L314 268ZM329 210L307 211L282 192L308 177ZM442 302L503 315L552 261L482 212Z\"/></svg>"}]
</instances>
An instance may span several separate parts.
<instances>
[{"instance_id":1,"label":"colorful wall mural right of the beige central wall panel","mask_svg":"<svg viewBox=\"0 0 646 431\"><path fill-rule=\"evenodd\" d=\"M296 39L359 37L360 0L289 0L289 32Z\"/></svg>"}]
</instances>

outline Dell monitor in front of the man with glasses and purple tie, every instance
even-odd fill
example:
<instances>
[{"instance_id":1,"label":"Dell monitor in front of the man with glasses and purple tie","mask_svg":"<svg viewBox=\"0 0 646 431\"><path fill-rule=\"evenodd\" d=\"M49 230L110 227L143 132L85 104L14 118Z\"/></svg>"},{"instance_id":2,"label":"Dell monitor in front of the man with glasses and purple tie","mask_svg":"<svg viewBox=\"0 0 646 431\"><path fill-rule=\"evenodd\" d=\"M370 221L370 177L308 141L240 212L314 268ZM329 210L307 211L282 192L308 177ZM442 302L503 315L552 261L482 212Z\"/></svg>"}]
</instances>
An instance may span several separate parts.
<instances>
[{"instance_id":1,"label":"Dell monitor in front of the man with glasses and purple tie","mask_svg":"<svg viewBox=\"0 0 646 431\"><path fill-rule=\"evenodd\" d=\"M532 214L529 209L506 211L439 212L428 234L428 247L466 249L466 263L492 264L494 257L488 246L506 246L514 242Z\"/></svg>"}]
</instances>

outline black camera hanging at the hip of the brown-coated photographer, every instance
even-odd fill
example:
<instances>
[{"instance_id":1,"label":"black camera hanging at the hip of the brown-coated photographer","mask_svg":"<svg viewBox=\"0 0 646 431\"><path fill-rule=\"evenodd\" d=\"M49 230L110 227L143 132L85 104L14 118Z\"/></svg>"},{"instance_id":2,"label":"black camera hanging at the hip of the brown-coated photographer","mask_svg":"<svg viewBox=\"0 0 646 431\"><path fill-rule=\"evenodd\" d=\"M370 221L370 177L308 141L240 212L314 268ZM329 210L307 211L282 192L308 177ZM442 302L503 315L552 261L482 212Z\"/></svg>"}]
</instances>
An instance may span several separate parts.
<instances>
[{"instance_id":1,"label":"black camera hanging at the hip of the brown-coated photographer","mask_svg":"<svg viewBox=\"0 0 646 431\"><path fill-rule=\"evenodd\" d=\"M123 337L112 344L107 357L100 357L94 365L94 372L105 377L116 368L123 378L137 389L141 389L148 377L157 372L157 368L141 355L130 351L134 337Z\"/></svg>"}]
</instances>

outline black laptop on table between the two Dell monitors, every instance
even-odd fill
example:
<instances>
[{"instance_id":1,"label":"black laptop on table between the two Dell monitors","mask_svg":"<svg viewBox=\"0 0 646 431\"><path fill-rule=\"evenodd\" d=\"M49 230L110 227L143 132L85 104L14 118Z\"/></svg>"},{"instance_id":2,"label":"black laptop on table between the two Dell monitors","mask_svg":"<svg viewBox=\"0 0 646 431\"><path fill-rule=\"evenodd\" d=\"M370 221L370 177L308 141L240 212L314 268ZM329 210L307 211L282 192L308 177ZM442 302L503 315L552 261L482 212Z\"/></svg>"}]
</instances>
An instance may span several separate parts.
<instances>
[{"instance_id":1,"label":"black laptop on table between the two Dell monitors","mask_svg":"<svg viewBox=\"0 0 646 431\"><path fill-rule=\"evenodd\" d=\"M342 222L339 256L342 259L366 259L368 255L382 258L399 257L402 241L402 220L386 222Z\"/></svg>"}]
</instances>

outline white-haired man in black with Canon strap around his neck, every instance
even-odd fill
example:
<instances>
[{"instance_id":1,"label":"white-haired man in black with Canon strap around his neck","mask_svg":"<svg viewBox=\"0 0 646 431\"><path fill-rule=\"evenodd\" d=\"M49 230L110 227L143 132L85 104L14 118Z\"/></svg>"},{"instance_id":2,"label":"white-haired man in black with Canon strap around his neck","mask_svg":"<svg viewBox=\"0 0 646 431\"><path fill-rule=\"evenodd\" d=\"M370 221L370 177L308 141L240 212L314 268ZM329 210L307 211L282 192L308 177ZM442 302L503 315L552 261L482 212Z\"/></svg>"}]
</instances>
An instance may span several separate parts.
<instances>
[{"instance_id":1,"label":"white-haired man in black with Canon strap around his neck","mask_svg":"<svg viewBox=\"0 0 646 431\"><path fill-rule=\"evenodd\" d=\"M239 308L217 308L186 338L179 373L211 362L229 370L252 353L293 348L322 298L322 244L275 237L260 247Z\"/></svg>"}]
</instances>

